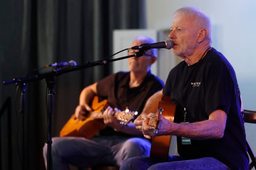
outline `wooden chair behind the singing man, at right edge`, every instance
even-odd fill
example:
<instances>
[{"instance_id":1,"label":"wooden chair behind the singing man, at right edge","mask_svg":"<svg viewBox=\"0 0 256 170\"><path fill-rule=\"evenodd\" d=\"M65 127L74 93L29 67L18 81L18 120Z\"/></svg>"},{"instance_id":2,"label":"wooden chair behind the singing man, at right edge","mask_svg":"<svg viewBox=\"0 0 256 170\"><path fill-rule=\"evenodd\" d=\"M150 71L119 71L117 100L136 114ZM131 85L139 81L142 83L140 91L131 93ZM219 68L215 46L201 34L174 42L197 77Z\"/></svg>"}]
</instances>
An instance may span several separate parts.
<instances>
[{"instance_id":1,"label":"wooden chair behind the singing man, at right edge","mask_svg":"<svg viewBox=\"0 0 256 170\"><path fill-rule=\"evenodd\" d=\"M244 122L256 123L256 111L244 110ZM249 170L251 170L253 167L256 169L256 157L254 157L253 151L251 150L251 147L247 141L246 141L246 145L247 145L248 155L252 160L249 165Z\"/></svg>"}]
</instances>

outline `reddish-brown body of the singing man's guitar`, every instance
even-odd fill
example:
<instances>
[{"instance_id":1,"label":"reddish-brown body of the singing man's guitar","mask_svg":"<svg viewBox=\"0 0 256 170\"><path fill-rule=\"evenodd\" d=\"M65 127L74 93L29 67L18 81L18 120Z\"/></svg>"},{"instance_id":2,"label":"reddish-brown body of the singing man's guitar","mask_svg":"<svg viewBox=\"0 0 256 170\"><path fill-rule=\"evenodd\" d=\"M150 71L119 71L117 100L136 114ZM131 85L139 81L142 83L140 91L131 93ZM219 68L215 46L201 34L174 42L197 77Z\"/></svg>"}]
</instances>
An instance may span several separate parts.
<instances>
[{"instance_id":1,"label":"reddish-brown body of the singing man's guitar","mask_svg":"<svg viewBox=\"0 0 256 170\"><path fill-rule=\"evenodd\" d=\"M176 104L171 103L170 96L163 96L159 101L158 109L163 108L162 116L173 122ZM168 160L171 135L155 136L151 140L150 157Z\"/></svg>"}]
</instances>

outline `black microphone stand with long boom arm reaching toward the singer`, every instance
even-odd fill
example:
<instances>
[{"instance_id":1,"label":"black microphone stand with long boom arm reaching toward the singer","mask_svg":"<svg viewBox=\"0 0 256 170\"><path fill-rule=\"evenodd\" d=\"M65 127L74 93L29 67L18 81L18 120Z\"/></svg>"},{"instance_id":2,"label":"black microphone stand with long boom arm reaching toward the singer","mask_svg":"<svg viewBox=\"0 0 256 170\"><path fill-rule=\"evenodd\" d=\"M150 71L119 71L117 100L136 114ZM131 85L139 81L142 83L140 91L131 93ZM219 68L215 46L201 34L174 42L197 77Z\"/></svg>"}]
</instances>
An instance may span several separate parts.
<instances>
[{"instance_id":1,"label":"black microphone stand with long boom arm reaching toward the singer","mask_svg":"<svg viewBox=\"0 0 256 170\"><path fill-rule=\"evenodd\" d=\"M137 53L134 53L133 55L129 55L129 56L125 56L125 57L120 57L120 58L110 59L110 60L102 59L102 60L95 61L95 62L87 62L87 64L85 64L85 65L63 68L61 70L54 70L54 71L50 71L47 73L28 76L28 77L14 78L13 80L3 82L3 84L5 84L5 85L9 85L12 83L16 83L16 85L21 85L21 84L25 85L25 83L34 82L34 81L42 80L43 78L45 78L45 80L47 82L47 89L48 89L48 93L47 93L48 136L47 136L47 141L46 141L46 143L47 143L47 170L52 170L52 114L53 114L53 110L54 110L53 109L53 106L54 106L53 95L55 94L55 92L53 90L54 85L55 85L54 76L59 76L59 75L62 75L63 73L68 73L71 71L81 70L83 68L89 68L89 67L98 66L98 65L105 65L109 62L118 61L121 59L130 58L130 57L137 58L137 57L143 56L143 53L144 52L140 50ZM22 100L24 100L24 99L22 98ZM24 112L24 102L22 102L21 107L23 108L23 112Z\"/></svg>"}]
</instances>

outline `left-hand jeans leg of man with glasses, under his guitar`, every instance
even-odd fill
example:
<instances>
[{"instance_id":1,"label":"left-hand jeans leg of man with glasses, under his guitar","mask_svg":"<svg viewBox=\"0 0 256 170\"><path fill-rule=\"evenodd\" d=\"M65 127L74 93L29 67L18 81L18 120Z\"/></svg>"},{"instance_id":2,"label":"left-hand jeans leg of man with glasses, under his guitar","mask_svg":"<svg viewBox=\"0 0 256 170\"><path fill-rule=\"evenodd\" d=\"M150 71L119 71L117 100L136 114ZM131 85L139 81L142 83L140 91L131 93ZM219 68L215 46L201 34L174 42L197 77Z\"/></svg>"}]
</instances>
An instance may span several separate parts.
<instances>
[{"instance_id":1,"label":"left-hand jeans leg of man with glasses, under his guitar","mask_svg":"<svg viewBox=\"0 0 256 170\"><path fill-rule=\"evenodd\" d=\"M43 148L47 167L47 145ZM78 137L52 138L53 169L68 170L68 164L77 167L93 167L112 156L111 149L95 141Z\"/></svg>"}]
</instances>

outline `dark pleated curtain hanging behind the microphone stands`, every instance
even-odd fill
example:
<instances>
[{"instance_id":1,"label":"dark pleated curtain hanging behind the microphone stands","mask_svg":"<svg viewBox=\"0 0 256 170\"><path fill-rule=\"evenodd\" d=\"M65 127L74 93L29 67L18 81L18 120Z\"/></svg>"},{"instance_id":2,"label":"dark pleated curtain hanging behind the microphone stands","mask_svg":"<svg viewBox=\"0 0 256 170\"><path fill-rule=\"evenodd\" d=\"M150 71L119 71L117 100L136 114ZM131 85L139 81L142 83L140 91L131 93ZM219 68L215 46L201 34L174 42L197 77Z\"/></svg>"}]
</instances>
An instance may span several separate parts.
<instances>
[{"instance_id":1,"label":"dark pleated curtain hanging behind the microphone stands","mask_svg":"<svg viewBox=\"0 0 256 170\"><path fill-rule=\"evenodd\" d=\"M113 53L114 29L145 28L145 21L145 0L0 0L0 169L45 169L47 140L46 81L26 83L24 93L21 85L2 82L55 62L103 59ZM54 76L52 136L73 114L81 90L111 68L109 63Z\"/></svg>"}]
</instances>

